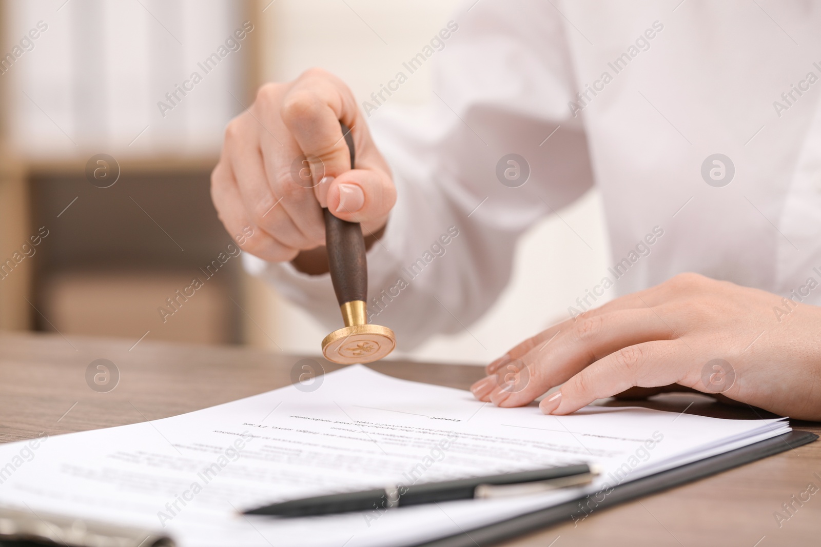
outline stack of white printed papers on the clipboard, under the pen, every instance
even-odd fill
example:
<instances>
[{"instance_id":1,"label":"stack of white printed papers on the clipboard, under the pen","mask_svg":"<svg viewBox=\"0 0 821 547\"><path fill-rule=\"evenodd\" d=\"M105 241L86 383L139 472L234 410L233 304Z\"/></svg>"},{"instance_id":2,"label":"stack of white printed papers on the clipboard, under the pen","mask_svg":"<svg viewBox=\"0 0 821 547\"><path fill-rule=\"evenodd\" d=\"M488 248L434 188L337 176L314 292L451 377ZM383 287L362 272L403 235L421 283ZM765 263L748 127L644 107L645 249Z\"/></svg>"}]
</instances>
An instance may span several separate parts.
<instances>
[{"instance_id":1,"label":"stack of white printed papers on the clipboard, under the pen","mask_svg":"<svg viewBox=\"0 0 821 547\"><path fill-rule=\"evenodd\" d=\"M590 406L545 416L361 365L154 422L0 446L0 506L134 526L182 547L414 545L582 499L790 431ZM244 516L287 499L595 463L592 485L319 517ZM592 498L591 498L592 499ZM581 503L581 501L580 501Z\"/></svg>"}]
</instances>

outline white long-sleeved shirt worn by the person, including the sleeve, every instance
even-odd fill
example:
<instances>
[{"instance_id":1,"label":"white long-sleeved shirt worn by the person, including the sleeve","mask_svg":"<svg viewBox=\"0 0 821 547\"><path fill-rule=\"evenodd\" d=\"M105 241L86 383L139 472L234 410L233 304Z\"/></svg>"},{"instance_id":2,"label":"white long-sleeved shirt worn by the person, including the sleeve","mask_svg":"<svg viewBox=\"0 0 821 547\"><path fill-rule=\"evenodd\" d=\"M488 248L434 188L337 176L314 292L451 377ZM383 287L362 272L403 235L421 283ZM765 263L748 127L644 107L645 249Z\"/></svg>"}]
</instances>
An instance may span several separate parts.
<instances>
[{"instance_id":1,"label":"white long-sleeved shirt worn by the person, including the sleeve","mask_svg":"<svg viewBox=\"0 0 821 547\"><path fill-rule=\"evenodd\" d=\"M510 278L516 239L591 185L617 294L695 271L821 303L819 3L467 7L426 61L429 105L363 106L398 193L368 253L369 314L400 348L479 318ZM530 169L518 187L504 175L521 177L521 162L502 162L507 185L497 176L510 153ZM339 326L328 275L246 264Z\"/></svg>"}]
</instances>

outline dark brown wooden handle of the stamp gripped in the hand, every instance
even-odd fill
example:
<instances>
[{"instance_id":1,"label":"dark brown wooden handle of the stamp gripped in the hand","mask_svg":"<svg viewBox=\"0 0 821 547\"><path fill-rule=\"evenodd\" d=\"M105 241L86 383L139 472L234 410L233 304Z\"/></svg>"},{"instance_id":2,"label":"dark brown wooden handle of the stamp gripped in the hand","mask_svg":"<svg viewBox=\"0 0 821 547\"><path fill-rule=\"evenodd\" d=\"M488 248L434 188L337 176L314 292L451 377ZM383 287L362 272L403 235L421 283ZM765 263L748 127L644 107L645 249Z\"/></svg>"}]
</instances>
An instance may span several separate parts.
<instances>
[{"instance_id":1,"label":"dark brown wooden handle of the stamp gripped in the hand","mask_svg":"<svg viewBox=\"0 0 821 547\"><path fill-rule=\"evenodd\" d=\"M355 165L354 139L351 130L342 125L345 143L351 152L351 169ZM358 222L343 221L333 216L328 208L325 217L325 247L328 251L328 267L331 271L333 290L339 305L355 300L368 299L368 263L365 259L365 238Z\"/></svg>"}]
</instances>

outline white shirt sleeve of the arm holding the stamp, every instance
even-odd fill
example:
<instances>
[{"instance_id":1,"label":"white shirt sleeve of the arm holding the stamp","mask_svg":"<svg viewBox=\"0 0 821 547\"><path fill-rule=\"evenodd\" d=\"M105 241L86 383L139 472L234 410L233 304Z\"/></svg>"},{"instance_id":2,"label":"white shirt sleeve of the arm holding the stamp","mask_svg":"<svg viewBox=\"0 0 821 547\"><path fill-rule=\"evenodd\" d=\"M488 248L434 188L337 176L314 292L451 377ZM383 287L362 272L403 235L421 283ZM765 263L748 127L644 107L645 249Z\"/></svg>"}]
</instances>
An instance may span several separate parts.
<instances>
[{"instance_id":1,"label":"white shirt sleeve of the arm holding the stamp","mask_svg":"<svg viewBox=\"0 0 821 547\"><path fill-rule=\"evenodd\" d=\"M550 2L469 7L397 66L388 91L362 103L397 185L385 233L368 252L369 321L391 327L406 350L478 319L507 285L522 232L593 184L581 118L568 107L574 78L561 15ZM390 90L426 63L429 103L395 107ZM248 255L245 263L329 329L339 326L328 274Z\"/></svg>"}]
</instances>

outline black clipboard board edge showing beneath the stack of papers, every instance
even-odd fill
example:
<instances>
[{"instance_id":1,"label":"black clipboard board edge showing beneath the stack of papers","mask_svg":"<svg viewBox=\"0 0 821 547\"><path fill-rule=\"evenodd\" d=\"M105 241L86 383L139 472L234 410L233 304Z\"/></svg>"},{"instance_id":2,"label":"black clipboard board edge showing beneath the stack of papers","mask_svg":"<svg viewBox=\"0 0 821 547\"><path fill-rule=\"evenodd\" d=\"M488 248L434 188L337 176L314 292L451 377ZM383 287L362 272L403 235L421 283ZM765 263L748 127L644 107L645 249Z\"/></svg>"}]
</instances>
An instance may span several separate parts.
<instances>
[{"instance_id":1,"label":"black clipboard board edge showing beneath the stack of papers","mask_svg":"<svg viewBox=\"0 0 821 547\"><path fill-rule=\"evenodd\" d=\"M655 475L645 476L636 481L626 482L613 488L612 492L604 496L603 501L596 504L593 511L588 514L594 514L604 508L645 495L655 494L687 482L697 481L705 476L715 475L745 463L767 458L773 454L794 449L802 444L809 444L818 438L819 435L810 433L810 431L790 431L772 439L762 440L724 454L704 458L698 462L688 463ZM585 513L579 507L579 502L580 499L586 497L539 509L539 511L533 513L525 513L507 521L462 531L454 536L415 544L411 547L485 547L495 545L501 541L553 526L559 522L574 520L573 517L585 517Z\"/></svg>"}]
</instances>

